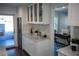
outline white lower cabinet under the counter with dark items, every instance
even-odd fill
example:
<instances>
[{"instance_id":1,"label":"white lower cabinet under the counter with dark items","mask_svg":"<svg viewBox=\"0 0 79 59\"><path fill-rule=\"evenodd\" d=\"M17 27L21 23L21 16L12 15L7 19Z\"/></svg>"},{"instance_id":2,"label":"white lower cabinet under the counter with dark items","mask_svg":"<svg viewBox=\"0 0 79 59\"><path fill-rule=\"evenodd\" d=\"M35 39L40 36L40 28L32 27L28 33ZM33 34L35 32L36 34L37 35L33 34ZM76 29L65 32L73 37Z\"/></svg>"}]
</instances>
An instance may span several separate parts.
<instances>
[{"instance_id":1,"label":"white lower cabinet under the counter with dark items","mask_svg":"<svg viewBox=\"0 0 79 59\"><path fill-rule=\"evenodd\" d=\"M31 56L50 56L50 40L35 41L23 38L23 49Z\"/></svg>"}]
</instances>

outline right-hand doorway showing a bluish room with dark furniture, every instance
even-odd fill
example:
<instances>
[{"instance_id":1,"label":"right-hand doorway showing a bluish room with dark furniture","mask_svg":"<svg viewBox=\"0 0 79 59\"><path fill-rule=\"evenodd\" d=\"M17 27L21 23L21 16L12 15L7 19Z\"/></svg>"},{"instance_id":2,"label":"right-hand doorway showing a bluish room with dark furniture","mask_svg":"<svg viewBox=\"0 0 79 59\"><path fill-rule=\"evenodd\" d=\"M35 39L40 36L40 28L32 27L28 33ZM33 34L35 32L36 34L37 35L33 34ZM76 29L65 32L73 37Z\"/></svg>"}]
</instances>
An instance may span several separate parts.
<instances>
[{"instance_id":1,"label":"right-hand doorway showing a bluish room with dark furniture","mask_svg":"<svg viewBox=\"0 0 79 59\"><path fill-rule=\"evenodd\" d=\"M68 7L56 7L54 15L54 55L58 56L58 49L69 45L70 28L68 26Z\"/></svg>"}]
</instances>

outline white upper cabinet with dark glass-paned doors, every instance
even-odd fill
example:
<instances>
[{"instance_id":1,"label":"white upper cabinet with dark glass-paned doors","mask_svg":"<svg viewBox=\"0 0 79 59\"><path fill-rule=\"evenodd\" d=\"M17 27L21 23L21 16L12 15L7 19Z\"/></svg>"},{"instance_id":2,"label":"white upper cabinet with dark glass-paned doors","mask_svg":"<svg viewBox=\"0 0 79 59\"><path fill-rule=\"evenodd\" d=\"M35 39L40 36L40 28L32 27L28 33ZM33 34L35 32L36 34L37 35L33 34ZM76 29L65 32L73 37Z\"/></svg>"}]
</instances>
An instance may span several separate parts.
<instances>
[{"instance_id":1,"label":"white upper cabinet with dark glass-paned doors","mask_svg":"<svg viewBox=\"0 0 79 59\"><path fill-rule=\"evenodd\" d=\"M32 4L28 6L28 23L32 24L50 24L50 5Z\"/></svg>"}]
</instances>

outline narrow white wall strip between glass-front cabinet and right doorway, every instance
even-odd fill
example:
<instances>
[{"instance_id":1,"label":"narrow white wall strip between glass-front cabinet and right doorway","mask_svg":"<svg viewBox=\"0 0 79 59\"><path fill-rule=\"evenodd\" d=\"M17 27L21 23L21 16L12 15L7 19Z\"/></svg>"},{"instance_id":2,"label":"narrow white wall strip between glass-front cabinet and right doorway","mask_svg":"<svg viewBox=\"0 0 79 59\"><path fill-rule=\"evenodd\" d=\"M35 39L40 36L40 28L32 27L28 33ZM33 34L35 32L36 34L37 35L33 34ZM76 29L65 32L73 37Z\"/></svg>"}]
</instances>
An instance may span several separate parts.
<instances>
[{"instance_id":1,"label":"narrow white wall strip between glass-front cabinet and right doorway","mask_svg":"<svg viewBox=\"0 0 79 59\"><path fill-rule=\"evenodd\" d=\"M51 39L51 55L54 56L54 15L55 15L55 10L54 10L54 5L50 5L50 39Z\"/></svg>"}]
</instances>

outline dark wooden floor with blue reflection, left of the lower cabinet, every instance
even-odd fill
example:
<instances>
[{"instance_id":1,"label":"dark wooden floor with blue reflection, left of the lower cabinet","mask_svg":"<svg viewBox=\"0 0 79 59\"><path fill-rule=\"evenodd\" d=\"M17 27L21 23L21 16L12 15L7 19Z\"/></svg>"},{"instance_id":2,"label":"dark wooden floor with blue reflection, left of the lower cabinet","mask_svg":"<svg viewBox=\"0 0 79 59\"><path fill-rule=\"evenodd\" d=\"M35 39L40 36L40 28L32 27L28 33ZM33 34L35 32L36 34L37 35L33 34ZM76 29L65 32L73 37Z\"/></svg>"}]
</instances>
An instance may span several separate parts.
<instances>
[{"instance_id":1,"label":"dark wooden floor with blue reflection, left of the lower cabinet","mask_svg":"<svg viewBox=\"0 0 79 59\"><path fill-rule=\"evenodd\" d=\"M20 48L7 48L6 51L8 56L30 56L26 51Z\"/></svg>"}]
</instances>

